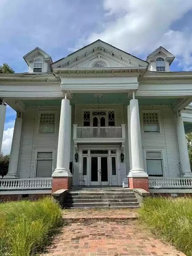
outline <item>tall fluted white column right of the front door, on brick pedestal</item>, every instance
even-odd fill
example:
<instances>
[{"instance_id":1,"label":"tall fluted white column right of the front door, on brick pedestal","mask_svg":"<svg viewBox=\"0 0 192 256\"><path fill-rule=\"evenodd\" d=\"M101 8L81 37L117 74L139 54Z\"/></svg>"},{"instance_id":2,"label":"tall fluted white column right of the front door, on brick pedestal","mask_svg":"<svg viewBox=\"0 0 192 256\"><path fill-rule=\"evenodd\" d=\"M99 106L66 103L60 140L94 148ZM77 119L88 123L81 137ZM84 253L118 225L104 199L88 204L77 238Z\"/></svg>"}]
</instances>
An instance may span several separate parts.
<instances>
[{"instance_id":1,"label":"tall fluted white column right of the front door, on brick pedestal","mask_svg":"<svg viewBox=\"0 0 192 256\"><path fill-rule=\"evenodd\" d=\"M129 109L129 108L128 108ZM128 120L129 122L129 120ZM139 103L138 100L130 100L130 141L131 141L131 163L132 169L128 177L148 177L143 170L143 156L141 145L141 129L139 121Z\"/></svg>"}]
</instances>

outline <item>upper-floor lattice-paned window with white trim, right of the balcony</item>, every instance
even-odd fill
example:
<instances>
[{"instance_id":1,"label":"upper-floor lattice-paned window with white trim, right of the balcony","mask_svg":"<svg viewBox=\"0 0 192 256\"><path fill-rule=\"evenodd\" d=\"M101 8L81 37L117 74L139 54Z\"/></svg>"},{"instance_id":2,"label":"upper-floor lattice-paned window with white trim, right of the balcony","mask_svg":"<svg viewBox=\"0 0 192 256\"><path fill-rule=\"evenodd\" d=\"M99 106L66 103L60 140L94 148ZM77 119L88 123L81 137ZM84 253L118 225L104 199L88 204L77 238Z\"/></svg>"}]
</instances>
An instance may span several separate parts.
<instances>
[{"instance_id":1,"label":"upper-floor lattice-paned window with white trim, right of the balcony","mask_svg":"<svg viewBox=\"0 0 192 256\"><path fill-rule=\"evenodd\" d=\"M160 132L158 112L143 112L143 132Z\"/></svg>"}]
</instances>

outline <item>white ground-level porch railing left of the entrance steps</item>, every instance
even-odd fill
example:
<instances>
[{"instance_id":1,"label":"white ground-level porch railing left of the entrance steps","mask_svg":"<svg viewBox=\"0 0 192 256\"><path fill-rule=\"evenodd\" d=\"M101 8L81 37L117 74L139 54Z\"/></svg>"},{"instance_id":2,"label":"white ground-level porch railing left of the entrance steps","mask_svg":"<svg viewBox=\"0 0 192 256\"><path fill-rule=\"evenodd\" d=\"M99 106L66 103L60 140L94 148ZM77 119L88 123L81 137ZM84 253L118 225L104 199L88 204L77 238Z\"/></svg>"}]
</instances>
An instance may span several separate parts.
<instances>
[{"instance_id":1,"label":"white ground-level porch railing left of the entrance steps","mask_svg":"<svg viewBox=\"0 0 192 256\"><path fill-rule=\"evenodd\" d=\"M52 178L41 179L0 179L0 190L51 189Z\"/></svg>"}]
</instances>

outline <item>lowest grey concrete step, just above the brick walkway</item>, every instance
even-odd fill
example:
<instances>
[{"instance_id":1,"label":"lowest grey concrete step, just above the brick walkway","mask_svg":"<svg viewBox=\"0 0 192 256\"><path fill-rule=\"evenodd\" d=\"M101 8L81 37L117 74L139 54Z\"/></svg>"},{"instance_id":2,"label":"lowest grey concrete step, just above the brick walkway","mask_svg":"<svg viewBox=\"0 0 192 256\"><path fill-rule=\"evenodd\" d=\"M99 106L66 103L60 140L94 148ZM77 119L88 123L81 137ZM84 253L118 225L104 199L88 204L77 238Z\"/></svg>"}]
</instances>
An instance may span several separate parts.
<instances>
[{"instance_id":1,"label":"lowest grey concrete step, just above the brick walkway","mask_svg":"<svg viewBox=\"0 0 192 256\"><path fill-rule=\"evenodd\" d=\"M138 202L129 203L66 203L66 207L129 207L139 206Z\"/></svg>"}]
</instances>

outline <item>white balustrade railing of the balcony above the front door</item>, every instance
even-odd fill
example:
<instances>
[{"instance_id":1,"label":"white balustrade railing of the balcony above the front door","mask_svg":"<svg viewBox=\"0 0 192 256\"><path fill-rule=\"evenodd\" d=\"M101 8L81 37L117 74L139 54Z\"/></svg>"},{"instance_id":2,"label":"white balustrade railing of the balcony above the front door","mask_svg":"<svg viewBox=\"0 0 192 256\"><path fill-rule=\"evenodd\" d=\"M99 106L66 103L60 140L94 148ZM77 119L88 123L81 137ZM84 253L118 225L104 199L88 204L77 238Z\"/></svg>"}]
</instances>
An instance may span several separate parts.
<instances>
[{"instance_id":1,"label":"white balustrade railing of the balcony above the front door","mask_svg":"<svg viewBox=\"0 0 192 256\"><path fill-rule=\"evenodd\" d=\"M113 127L80 127L73 125L73 139L125 139L125 125Z\"/></svg>"}]
</instances>

